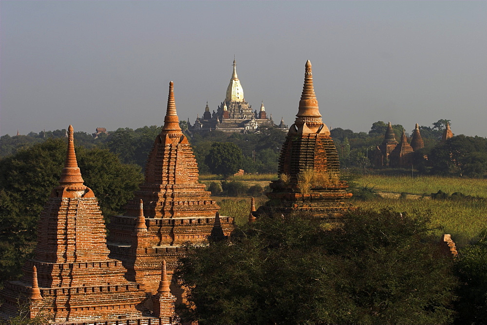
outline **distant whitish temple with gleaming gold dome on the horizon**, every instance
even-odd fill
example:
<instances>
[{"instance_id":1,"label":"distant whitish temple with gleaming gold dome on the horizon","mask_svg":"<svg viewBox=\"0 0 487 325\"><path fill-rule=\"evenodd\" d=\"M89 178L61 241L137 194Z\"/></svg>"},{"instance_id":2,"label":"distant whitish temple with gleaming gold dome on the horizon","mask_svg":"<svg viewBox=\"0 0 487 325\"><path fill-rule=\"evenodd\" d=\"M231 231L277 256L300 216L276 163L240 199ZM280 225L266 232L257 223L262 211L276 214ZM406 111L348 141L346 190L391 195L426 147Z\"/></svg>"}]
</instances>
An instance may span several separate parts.
<instances>
[{"instance_id":1,"label":"distant whitish temple with gleaming gold dome on the horizon","mask_svg":"<svg viewBox=\"0 0 487 325\"><path fill-rule=\"evenodd\" d=\"M245 101L244 89L237 76L237 64L233 60L233 73L230 83L226 89L225 100L218 106L217 111L210 112L206 102L205 112L200 118L196 118L190 131L223 131L223 132L258 132L260 128L276 126L272 121L272 114L267 117L264 103L262 102L259 112L253 111L252 106ZM284 121L278 126L286 129Z\"/></svg>"}]
</instances>

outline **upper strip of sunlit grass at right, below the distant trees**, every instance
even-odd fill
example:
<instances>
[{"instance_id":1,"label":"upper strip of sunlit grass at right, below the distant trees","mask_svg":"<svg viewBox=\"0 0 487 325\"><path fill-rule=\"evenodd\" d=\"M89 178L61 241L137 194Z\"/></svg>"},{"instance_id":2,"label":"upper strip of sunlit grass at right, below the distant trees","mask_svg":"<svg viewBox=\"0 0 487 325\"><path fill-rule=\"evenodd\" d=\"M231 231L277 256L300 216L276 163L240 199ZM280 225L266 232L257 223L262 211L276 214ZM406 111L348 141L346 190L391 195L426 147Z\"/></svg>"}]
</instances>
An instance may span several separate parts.
<instances>
[{"instance_id":1,"label":"upper strip of sunlit grass at right, below the distant trees","mask_svg":"<svg viewBox=\"0 0 487 325\"><path fill-rule=\"evenodd\" d=\"M359 185L375 186L375 190L394 193L436 193L442 190L446 193L461 192L465 195L487 198L487 180L464 179L440 176L364 176L356 181Z\"/></svg>"}]
</instances>

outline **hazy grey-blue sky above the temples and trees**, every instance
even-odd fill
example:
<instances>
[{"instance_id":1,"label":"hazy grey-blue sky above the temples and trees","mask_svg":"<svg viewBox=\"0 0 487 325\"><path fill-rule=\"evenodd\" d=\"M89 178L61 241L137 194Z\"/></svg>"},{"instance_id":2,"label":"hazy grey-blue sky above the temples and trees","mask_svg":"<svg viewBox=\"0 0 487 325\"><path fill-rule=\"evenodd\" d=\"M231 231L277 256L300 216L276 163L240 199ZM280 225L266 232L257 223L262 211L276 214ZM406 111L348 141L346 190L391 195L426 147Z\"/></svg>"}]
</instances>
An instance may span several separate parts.
<instances>
[{"instance_id":1,"label":"hazy grey-blue sky above the temples and trees","mask_svg":"<svg viewBox=\"0 0 487 325\"><path fill-rule=\"evenodd\" d=\"M310 60L323 122L487 137L487 1L0 1L0 135L180 120L225 99L290 126Z\"/></svg>"}]
</instances>

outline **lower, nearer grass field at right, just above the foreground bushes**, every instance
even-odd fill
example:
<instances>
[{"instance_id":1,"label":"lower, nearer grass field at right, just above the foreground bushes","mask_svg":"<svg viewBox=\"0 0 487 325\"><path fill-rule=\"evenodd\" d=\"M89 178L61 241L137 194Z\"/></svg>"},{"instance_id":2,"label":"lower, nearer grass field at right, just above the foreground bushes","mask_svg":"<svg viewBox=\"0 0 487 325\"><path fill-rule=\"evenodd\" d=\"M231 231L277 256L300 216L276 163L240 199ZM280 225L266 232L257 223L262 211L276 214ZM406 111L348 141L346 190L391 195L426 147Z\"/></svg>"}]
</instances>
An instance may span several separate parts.
<instances>
[{"instance_id":1,"label":"lower, nearer grass field at right, just above the foreground bushes","mask_svg":"<svg viewBox=\"0 0 487 325\"><path fill-rule=\"evenodd\" d=\"M354 205L374 210L391 207L394 211L409 213L429 210L432 224L444 227L438 231L438 236L451 234L460 247L475 238L487 221L486 200L375 199L354 201Z\"/></svg>"}]
</instances>

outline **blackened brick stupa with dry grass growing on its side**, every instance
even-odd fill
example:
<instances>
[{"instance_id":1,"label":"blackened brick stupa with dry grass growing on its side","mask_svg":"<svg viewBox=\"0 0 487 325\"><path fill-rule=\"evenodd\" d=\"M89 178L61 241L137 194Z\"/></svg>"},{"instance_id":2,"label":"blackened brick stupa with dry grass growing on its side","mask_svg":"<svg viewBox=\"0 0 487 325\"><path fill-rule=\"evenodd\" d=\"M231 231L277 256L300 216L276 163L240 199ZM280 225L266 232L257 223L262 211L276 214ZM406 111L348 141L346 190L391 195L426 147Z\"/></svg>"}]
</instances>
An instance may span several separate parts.
<instances>
[{"instance_id":1,"label":"blackened brick stupa with dry grass growing on its side","mask_svg":"<svg viewBox=\"0 0 487 325\"><path fill-rule=\"evenodd\" d=\"M309 60L296 116L281 149L280 179L271 183L270 201L260 210L335 219L352 209L347 202L352 194L347 192L347 183L339 180L337 149L321 120Z\"/></svg>"}]
</instances>

